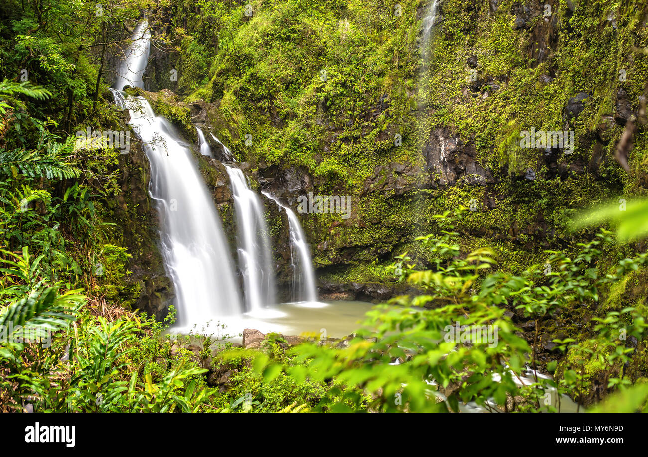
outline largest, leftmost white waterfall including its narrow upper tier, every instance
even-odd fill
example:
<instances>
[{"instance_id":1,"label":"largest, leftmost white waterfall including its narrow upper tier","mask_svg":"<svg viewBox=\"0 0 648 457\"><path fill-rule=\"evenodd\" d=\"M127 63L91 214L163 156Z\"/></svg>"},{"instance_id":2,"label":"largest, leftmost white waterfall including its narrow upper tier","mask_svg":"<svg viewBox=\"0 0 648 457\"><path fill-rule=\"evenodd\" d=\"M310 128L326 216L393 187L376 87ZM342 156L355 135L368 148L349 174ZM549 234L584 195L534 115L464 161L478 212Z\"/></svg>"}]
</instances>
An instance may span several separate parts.
<instances>
[{"instance_id":1,"label":"largest, leftmost white waterfall including its narrow upper tier","mask_svg":"<svg viewBox=\"0 0 648 457\"><path fill-rule=\"evenodd\" d=\"M115 102L130 111L129 124L141 137L151 165L149 192L160 216L161 252L176 288L178 324L202 326L240 314L242 305L220 217L191 150L145 98L119 92L127 84L143 86L147 27L143 21L135 29L113 93Z\"/></svg>"}]
</instances>

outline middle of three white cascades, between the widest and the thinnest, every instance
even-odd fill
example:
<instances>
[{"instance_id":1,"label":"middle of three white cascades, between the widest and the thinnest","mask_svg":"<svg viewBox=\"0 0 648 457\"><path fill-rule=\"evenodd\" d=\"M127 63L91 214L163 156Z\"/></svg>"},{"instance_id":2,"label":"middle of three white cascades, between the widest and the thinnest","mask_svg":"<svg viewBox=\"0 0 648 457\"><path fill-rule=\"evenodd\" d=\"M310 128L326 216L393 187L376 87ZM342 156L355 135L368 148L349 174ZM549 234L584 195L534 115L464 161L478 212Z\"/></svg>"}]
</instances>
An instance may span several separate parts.
<instances>
[{"instance_id":1,"label":"middle of three white cascades, between the widest and the thinnest","mask_svg":"<svg viewBox=\"0 0 648 457\"><path fill-rule=\"evenodd\" d=\"M238 266L243 273L246 309L258 311L276 302L275 274L264 208L242 170L231 165L226 165L226 168L237 214Z\"/></svg>"}]
</instances>

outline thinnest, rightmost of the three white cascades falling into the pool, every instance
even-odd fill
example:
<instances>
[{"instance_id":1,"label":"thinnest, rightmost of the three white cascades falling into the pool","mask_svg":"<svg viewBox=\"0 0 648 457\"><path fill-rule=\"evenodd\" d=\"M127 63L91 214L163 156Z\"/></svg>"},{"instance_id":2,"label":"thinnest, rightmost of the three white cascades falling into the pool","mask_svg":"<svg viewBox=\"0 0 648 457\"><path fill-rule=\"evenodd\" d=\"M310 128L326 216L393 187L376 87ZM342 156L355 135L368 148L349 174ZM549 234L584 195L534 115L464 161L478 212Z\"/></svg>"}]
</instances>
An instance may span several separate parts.
<instances>
[{"instance_id":1,"label":"thinnest, rightmost of the three white cascades falling into the pool","mask_svg":"<svg viewBox=\"0 0 648 457\"><path fill-rule=\"evenodd\" d=\"M290 232L290 258L293 270L292 301L317 302L315 289L315 273L310 258L310 248L297 215L288 206L281 204L273 195L263 192L266 197L281 206L288 216L288 231Z\"/></svg>"}]
</instances>

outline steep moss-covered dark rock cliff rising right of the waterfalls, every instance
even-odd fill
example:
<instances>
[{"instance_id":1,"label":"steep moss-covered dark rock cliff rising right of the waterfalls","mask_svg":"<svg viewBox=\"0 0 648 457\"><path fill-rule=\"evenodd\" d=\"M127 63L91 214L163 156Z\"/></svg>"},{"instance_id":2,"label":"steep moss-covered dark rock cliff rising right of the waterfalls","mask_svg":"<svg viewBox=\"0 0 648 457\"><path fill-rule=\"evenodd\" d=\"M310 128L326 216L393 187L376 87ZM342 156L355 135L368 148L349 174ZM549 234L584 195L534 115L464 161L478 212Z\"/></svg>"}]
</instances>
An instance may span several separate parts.
<instances>
[{"instance_id":1,"label":"steep moss-covered dark rock cliff rising right of the waterfalls","mask_svg":"<svg viewBox=\"0 0 648 457\"><path fill-rule=\"evenodd\" d=\"M172 2L157 32L176 52L154 54L147 88L176 91L255 185L293 208L309 192L351 195L348 218L300 216L324 296L406 291L384 266L405 251L426 265L413 240L445 210L470 209L462 248L494 247L500 268L519 273L545 249L573 252L590 238L570 230L577 208L645 194L643 1L250 5ZM633 147L617 151L631 128ZM537 131L565 132L564 144L522 147ZM270 226L285 236L276 216ZM601 269L620 255L607 252ZM607 306L644 306L633 284L632 296L610 291ZM575 307L570 329L566 316L545 322L540 362L595 313Z\"/></svg>"}]
</instances>

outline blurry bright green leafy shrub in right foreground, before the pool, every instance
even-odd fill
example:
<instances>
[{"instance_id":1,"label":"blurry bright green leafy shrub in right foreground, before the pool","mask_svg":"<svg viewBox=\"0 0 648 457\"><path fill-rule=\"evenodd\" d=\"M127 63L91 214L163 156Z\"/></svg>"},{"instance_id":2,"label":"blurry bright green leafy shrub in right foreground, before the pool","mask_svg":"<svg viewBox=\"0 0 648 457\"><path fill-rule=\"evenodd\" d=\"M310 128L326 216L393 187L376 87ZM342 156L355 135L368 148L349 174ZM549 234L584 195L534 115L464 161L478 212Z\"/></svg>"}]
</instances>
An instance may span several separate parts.
<instances>
[{"instance_id":1,"label":"blurry bright green leafy shrub in right foreground, before the pool","mask_svg":"<svg viewBox=\"0 0 648 457\"><path fill-rule=\"evenodd\" d=\"M605 285L645 264L646 256L623 260L612 273L597 273L601 251L596 248L612 241L603 232L597 240L581 244L573 260L562 252L548 251L550 271L546 265L533 265L520 276L502 271L483 274L495 263L492 252L478 249L461 254L452 241L457 236L453 224L460 215L438 216L440 235L419 239L430 248L433 268L408 269L406 276L426 290L424 295L400 296L367 313L349 348L303 344L292 351L294 361L303 366L261 359L259 372L269 380L283 372L301 380L335 379L371 396L373 410L457 411L460 404L469 402L487 410L558 410L561 396L577 392L586 374L582 366L574 366L564 370L560 381L538 376L535 348L542 319L583 300L596 302ZM532 344L519 336L507 309L519 309L535 320ZM641 338L643 318L623 309L597 322L592 344L570 345L573 339L557 343L563 350L592 346L596 350L590 357L618 368L627 361L628 351L625 341L613 336L623 328ZM477 331L470 333L473 329ZM489 329L494 338L487 338ZM461 338L455 336L459 333ZM555 364L548 368L555 370ZM610 387L624 384L621 377L616 381L611 377ZM332 410L353 405L354 393L348 392L352 396L329 405Z\"/></svg>"}]
</instances>

